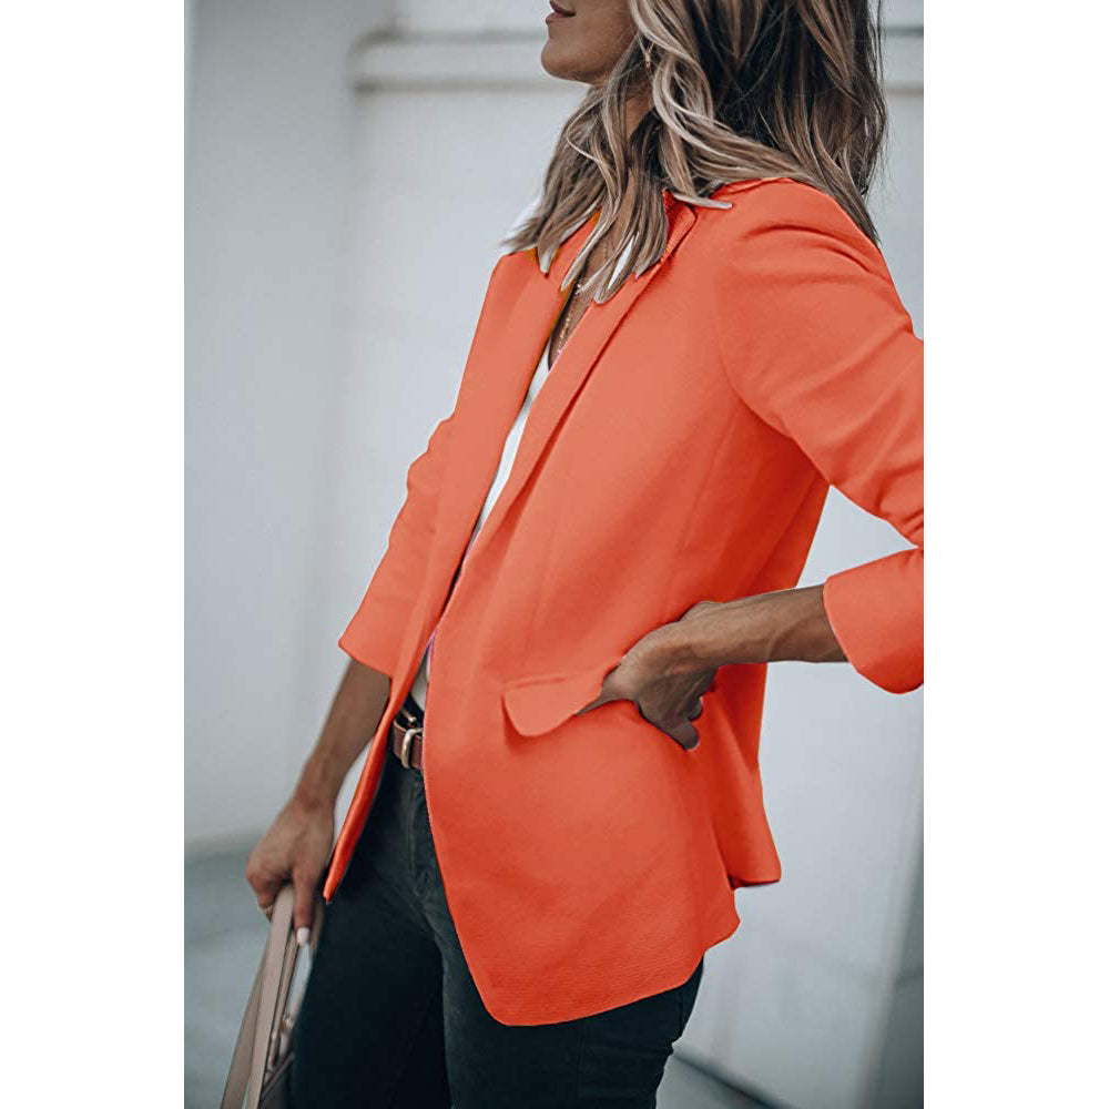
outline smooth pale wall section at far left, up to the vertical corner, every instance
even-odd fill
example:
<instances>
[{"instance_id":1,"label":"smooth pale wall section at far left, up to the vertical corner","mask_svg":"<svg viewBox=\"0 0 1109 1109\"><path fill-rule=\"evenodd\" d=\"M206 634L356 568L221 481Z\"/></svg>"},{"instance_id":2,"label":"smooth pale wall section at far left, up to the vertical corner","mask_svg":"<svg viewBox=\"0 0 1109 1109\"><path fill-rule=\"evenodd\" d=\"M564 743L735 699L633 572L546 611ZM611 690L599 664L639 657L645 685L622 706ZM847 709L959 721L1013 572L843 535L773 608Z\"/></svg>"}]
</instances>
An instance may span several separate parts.
<instances>
[{"instance_id":1,"label":"smooth pale wall section at far left, up to the vertical corner","mask_svg":"<svg viewBox=\"0 0 1109 1109\"><path fill-rule=\"evenodd\" d=\"M253 833L323 691L305 634L344 358L354 98L373 6L196 0L186 162L186 843ZM313 624L313 627L315 627Z\"/></svg>"}]
</instances>

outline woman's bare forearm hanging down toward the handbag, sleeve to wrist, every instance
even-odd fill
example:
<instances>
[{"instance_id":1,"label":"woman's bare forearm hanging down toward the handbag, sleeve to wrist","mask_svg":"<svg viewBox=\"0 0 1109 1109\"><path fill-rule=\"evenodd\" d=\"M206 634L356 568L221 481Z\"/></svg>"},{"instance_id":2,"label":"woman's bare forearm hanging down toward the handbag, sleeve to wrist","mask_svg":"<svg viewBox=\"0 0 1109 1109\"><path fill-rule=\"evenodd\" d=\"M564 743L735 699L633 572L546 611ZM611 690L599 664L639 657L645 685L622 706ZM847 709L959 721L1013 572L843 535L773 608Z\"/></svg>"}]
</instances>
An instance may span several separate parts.
<instances>
[{"instance_id":1,"label":"woman's bare forearm hanging down toward the handbag, sleeve to wrist","mask_svg":"<svg viewBox=\"0 0 1109 1109\"><path fill-rule=\"evenodd\" d=\"M327 721L301 772L295 798L330 807L343 780L377 728L389 696L389 678L350 661L332 701Z\"/></svg>"}]
</instances>

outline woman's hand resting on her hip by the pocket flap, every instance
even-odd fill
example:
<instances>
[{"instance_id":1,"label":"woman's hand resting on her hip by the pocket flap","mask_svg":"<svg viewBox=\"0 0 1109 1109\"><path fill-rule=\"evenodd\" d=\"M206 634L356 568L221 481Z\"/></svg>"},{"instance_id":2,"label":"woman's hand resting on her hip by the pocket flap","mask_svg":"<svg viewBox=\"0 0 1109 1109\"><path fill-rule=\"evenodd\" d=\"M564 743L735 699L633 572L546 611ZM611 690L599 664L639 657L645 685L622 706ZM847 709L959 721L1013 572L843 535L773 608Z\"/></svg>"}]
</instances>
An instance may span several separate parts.
<instances>
[{"instance_id":1,"label":"woman's hand resting on her hip by the pocket flap","mask_svg":"<svg viewBox=\"0 0 1109 1109\"><path fill-rule=\"evenodd\" d=\"M715 608L715 601L701 601L680 620L648 632L606 674L600 695L576 715L609 701L628 700L644 720L692 751L700 739L692 721L704 709L702 698L714 685L716 667L706 668L693 659L685 644L691 623Z\"/></svg>"}]
</instances>

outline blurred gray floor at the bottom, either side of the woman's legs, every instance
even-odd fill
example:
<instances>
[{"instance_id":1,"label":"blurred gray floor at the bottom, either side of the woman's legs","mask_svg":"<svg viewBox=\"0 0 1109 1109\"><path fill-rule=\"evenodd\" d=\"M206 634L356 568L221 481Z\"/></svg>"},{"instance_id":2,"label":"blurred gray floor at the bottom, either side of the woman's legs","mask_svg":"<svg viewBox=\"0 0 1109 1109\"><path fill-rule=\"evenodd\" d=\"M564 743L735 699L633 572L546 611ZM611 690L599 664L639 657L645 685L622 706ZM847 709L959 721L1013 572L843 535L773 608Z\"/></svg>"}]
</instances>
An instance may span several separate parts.
<instances>
[{"instance_id":1,"label":"blurred gray floor at the bottom, either side of the woman's legs","mask_svg":"<svg viewBox=\"0 0 1109 1109\"><path fill-rule=\"evenodd\" d=\"M243 879L245 853L185 864L185 1109L220 1103L266 920ZM672 1058L660 1109L752 1109L760 1102Z\"/></svg>"}]
</instances>

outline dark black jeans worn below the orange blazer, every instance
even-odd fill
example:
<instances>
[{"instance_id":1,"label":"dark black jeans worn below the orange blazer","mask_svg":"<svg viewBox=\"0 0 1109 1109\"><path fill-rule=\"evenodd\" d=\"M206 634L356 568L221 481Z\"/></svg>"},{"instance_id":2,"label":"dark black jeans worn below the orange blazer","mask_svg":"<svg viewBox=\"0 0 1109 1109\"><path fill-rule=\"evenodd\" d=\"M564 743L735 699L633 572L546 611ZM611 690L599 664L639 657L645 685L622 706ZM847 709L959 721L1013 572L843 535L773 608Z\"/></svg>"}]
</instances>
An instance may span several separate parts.
<instances>
[{"instance_id":1,"label":"dark black jeans worn below the orange blazer","mask_svg":"<svg viewBox=\"0 0 1109 1109\"><path fill-rule=\"evenodd\" d=\"M294 1109L654 1106L701 984L554 1025L486 1011L447 910L423 775L395 755L326 907L295 1030Z\"/></svg>"}]
</instances>

